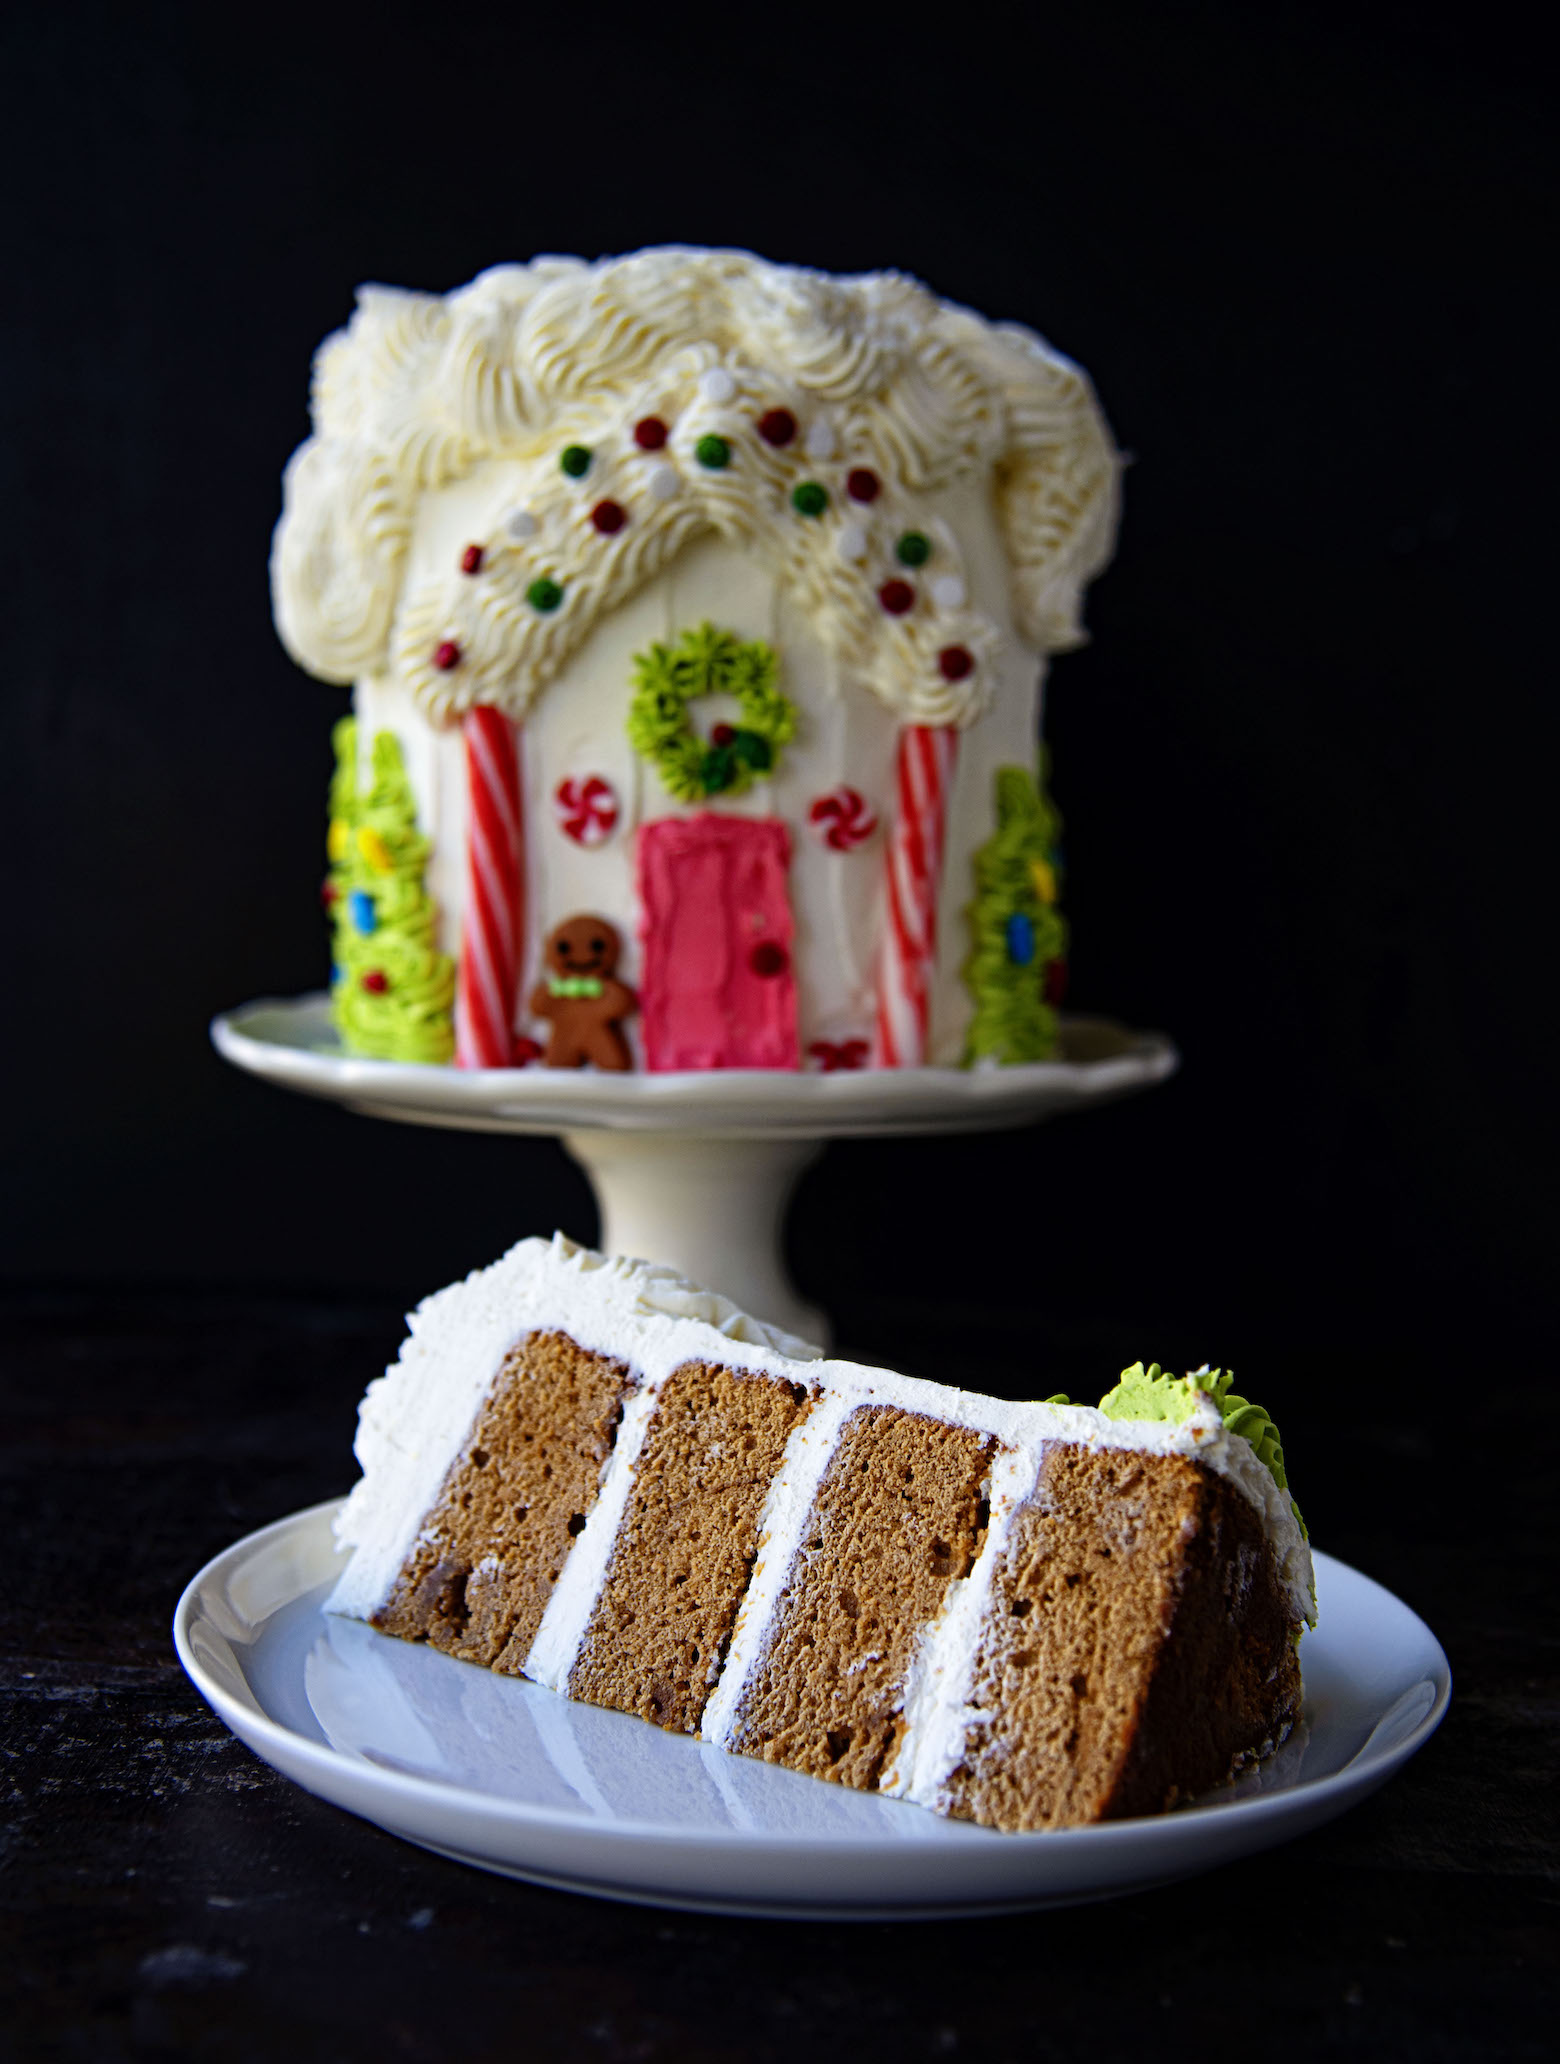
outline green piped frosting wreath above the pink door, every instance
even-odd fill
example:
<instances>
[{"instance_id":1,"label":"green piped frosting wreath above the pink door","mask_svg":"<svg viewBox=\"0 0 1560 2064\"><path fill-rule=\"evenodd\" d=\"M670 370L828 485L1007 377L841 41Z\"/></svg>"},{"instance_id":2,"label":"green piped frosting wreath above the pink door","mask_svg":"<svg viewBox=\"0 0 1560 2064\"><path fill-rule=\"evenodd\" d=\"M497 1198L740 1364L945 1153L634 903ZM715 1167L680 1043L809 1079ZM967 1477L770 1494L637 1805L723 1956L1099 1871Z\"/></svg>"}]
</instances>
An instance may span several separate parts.
<instances>
[{"instance_id":1,"label":"green piped frosting wreath above the pink door","mask_svg":"<svg viewBox=\"0 0 1560 2064\"><path fill-rule=\"evenodd\" d=\"M797 706L776 685L778 675L772 646L743 642L714 623L683 632L675 646L636 652L629 745L679 803L745 795L797 733ZM700 696L737 698L741 722L718 745L693 729L687 706Z\"/></svg>"}]
</instances>

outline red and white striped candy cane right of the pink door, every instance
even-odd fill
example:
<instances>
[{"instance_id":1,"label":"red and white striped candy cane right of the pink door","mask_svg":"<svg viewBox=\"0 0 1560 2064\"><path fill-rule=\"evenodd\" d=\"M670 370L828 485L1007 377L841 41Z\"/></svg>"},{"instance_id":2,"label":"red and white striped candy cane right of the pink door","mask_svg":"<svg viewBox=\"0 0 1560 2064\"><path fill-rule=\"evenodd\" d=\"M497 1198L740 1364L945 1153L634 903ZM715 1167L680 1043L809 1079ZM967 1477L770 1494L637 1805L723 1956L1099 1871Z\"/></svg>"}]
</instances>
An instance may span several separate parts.
<instances>
[{"instance_id":1,"label":"red and white striped candy cane right of the pink door","mask_svg":"<svg viewBox=\"0 0 1560 2064\"><path fill-rule=\"evenodd\" d=\"M927 1059L937 890L957 749L960 735L949 724L906 724L900 733L877 976L877 1067L920 1067Z\"/></svg>"}]
</instances>

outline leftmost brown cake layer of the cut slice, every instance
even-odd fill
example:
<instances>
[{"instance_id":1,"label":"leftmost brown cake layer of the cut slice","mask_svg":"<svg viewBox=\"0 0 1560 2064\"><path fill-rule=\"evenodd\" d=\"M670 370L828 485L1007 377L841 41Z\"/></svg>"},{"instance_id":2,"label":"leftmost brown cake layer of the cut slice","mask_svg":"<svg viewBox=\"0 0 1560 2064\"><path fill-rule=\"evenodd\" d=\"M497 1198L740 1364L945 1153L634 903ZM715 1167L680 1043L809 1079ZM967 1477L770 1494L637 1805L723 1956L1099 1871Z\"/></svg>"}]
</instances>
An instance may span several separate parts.
<instances>
[{"instance_id":1,"label":"leftmost brown cake layer of the cut slice","mask_svg":"<svg viewBox=\"0 0 1560 2064\"><path fill-rule=\"evenodd\" d=\"M518 1342L373 1624L518 1676L631 1389L567 1333Z\"/></svg>"}]
</instances>

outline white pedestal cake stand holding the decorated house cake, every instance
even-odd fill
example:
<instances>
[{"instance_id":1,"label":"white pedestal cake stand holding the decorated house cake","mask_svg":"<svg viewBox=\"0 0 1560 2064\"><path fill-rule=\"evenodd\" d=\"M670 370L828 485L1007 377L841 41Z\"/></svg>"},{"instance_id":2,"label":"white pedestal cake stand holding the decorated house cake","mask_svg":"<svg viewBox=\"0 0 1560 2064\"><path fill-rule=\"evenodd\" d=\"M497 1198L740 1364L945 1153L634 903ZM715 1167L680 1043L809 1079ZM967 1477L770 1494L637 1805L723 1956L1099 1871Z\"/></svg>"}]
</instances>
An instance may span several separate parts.
<instances>
[{"instance_id":1,"label":"white pedestal cake stand holding the decorated house cake","mask_svg":"<svg viewBox=\"0 0 1560 2064\"><path fill-rule=\"evenodd\" d=\"M1090 1110L1164 1082L1158 1032L1063 1020L1063 1057L1030 1067L863 1069L790 1075L718 1069L600 1075L545 1067L456 1069L361 1061L340 1049L324 995L264 997L213 1020L223 1059L376 1119L473 1133L553 1133L590 1176L600 1245L664 1261L805 1340L827 1321L780 1259L797 1179L825 1139L974 1133Z\"/></svg>"}]
</instances>

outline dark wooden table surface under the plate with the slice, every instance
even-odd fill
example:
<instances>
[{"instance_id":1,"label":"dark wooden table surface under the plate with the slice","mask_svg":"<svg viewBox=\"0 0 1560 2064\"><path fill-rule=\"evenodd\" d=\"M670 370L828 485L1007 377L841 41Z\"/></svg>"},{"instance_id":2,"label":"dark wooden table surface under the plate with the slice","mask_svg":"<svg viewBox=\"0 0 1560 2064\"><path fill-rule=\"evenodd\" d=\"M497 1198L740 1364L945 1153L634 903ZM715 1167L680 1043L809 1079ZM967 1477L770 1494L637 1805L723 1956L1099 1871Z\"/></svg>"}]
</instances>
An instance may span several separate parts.
<instances>
[{"instance_id":1,"label":"dark wooden table surface under the plate with the slice","mask_svg":"<svg viewBox=\"0 0 1560 2064\"><path fill-rule=\"evenodd\" d=\"M1325 1445L1347 1370L1265 1379L1317 1540L1416 1606L1453 1662L1451 1717L1366 1806L1112 1905L803 1926L425 1856L289 1785L190 1688L180 1589L347 1486L357 1395L398 1331L394 1313L237 1298L8 1309L0 2054L1556 2054L1548 1377L1502 1389L1471 1366L1461 1428L1364 1404L1347 1449ZM918 1321L914 1340L906 1360L972 1375L968 1333L955 1350ZM1017 1368L1013 1342L984 1344L984 1387L1003 1354Z\"/></svg>"}]
</instances>

